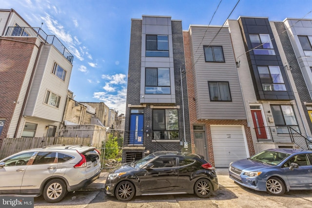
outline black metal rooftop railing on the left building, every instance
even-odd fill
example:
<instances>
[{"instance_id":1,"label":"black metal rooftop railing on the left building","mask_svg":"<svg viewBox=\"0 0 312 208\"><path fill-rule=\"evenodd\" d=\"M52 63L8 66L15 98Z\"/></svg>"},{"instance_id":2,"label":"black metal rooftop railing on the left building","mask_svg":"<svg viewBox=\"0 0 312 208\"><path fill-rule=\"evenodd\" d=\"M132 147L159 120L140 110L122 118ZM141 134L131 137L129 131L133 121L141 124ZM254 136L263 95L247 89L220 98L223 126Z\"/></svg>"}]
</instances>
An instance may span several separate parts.
<instances>
[{"instance_id":1,"label":"black metal rooftop railing on the left building","mask_svg":"<svg viewBox=\"0 0 312 208\"><path fill-rule=\"evenodd\" d=\"M52 44L58 51L71 63L73 63L74 56L61 43L61 41L54 35L47 35L39 27L8 27L4 36L20 36L39 38L42 42Z\"/></svg>"}]
</instances>

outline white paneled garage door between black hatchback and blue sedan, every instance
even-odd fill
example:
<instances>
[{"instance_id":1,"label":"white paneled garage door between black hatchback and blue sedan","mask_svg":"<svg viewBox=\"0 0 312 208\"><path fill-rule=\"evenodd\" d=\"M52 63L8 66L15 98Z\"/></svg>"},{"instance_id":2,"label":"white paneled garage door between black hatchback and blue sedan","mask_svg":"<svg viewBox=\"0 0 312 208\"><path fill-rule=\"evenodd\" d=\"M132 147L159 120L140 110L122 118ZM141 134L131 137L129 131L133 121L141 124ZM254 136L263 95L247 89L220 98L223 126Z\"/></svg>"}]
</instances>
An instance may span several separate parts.
<instances>
[{"instance_id":1,"label":"white paneled garage door between black hatchback and blue sedan","mask_svg":"<svg viewBox=\"0 0 312 208\"><path fill-rule=\"evenodd\" d=\"M231 162L247 157L242 126L211 126L211 136L215 167L229 167Z\"/></svg>"}]
</instances>

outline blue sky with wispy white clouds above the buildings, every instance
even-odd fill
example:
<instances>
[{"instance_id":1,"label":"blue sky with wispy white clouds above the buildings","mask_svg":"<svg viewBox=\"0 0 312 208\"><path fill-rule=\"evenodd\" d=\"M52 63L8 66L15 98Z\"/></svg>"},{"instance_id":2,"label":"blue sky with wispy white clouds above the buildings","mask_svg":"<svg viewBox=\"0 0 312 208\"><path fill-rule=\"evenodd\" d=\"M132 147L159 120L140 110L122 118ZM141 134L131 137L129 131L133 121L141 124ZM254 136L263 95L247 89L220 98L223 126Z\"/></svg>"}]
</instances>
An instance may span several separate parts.
<instances>
[{"instance_id":1,"label":"blue sky with wispy white clouds above the buildings","mask_svg":"<svg viewBox=\"0 0 312 208\"><path fill-rule=\"evenodd\" d=\"M312 19L312 0L0 0L0 8L13 8L74 55L69 90L76 101L104 102L118 114L126 109L131 19L171 16L183 30L239 16Z\"/></svg>"}]
</instances>

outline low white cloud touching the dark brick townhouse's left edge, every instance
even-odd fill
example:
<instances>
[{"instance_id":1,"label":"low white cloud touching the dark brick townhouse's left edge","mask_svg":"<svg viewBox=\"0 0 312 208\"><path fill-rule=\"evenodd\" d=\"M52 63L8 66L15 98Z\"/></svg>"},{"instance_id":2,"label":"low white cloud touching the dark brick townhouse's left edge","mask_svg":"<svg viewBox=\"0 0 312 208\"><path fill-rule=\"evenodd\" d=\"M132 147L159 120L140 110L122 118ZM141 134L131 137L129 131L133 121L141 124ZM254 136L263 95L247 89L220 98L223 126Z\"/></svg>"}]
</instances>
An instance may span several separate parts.
<instances>
[{"instance_id":1,"label":"low white cloud touching the dark brick townhouse's left edge","mask_svg":"<svg viewBox=\"0 0 312 208\"><path fill-rule=\"evenodd\" d=\"M93 97L99 101L103 101L109 108L114 108L120 113L126 113L126 96L127 89L123 87L117 91L117 95L107 94L105 92L97 92L93 94Z\"/></svg>"}]
</instances>

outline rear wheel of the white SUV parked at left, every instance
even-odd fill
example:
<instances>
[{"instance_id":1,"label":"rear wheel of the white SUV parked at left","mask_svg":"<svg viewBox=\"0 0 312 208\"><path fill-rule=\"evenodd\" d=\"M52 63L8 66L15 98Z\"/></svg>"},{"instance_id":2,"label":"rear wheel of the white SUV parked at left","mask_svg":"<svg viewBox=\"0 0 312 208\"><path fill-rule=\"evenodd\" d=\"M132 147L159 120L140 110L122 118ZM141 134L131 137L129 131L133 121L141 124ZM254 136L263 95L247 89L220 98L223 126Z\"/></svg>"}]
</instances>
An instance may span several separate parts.
<instances>
[{"instance_id":1,"label":"rear wheel of the white SUV parked at left","mask_svg":"<svg viewBox=\"0 0 312 208\"><path fill-rule=\"evenodd\" d=\"M66 185L61 179L52 179L43 189L43 198L50 203L59 202L66 196L66 194Z\"/></svg>"}]
</instances>

